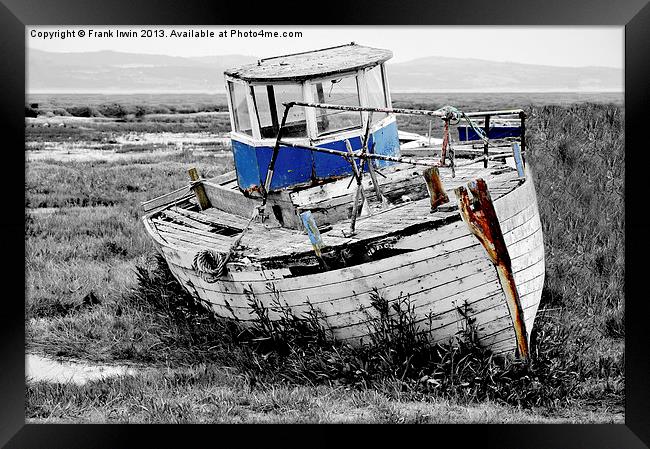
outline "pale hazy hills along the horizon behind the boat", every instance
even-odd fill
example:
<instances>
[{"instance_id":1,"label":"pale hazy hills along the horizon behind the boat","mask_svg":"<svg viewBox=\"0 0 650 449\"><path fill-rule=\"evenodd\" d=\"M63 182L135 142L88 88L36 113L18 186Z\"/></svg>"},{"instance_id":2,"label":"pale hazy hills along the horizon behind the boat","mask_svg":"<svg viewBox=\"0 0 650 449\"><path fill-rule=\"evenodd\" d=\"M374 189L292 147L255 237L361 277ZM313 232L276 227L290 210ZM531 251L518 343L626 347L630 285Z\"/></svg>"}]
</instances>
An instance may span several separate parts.
<instances>
[{"instance_id":1,"label":"pale hazy hills along the horizon behind the boat","mask_svg":"<svg viewBox=\"0 0 650 449\"><path fill-rule=\"evenodd\" d=\"M253 56L175 57L28 49L28 92L222 92L223 72ZM427 57L388 64L394 92L622 91L623 71Z\"/></svg>"}]
</instances>

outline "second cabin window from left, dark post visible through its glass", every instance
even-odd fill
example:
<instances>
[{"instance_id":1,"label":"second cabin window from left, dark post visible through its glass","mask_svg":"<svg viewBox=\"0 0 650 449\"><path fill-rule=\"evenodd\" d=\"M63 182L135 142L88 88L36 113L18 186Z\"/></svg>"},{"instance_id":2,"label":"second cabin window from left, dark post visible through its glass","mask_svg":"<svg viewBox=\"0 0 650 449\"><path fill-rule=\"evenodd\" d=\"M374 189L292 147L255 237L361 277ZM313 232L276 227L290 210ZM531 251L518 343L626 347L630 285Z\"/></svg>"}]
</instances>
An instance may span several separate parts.
<instances>
[{"instance_id":1,"label":"second cabin window from left, dark post visible through its glass","mask_svg":"<svg viewBox=\"0 0 650 449\"><path fill-rule=\"evenodd\" d=\"M253 87L253 99L257 109L262 138L274 138L282 122L284 105L289 101L302 101L302 86L299 84L280 84ZM305 110L293 107L289 110L283 137L306 137L307 121Z\"/></svg>"}]
</instances>

